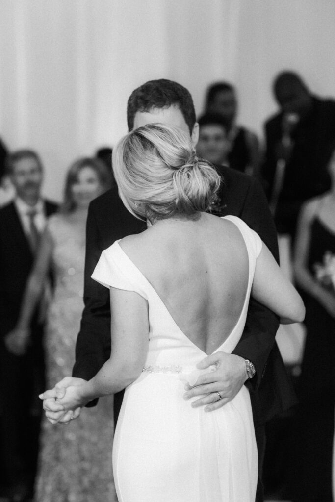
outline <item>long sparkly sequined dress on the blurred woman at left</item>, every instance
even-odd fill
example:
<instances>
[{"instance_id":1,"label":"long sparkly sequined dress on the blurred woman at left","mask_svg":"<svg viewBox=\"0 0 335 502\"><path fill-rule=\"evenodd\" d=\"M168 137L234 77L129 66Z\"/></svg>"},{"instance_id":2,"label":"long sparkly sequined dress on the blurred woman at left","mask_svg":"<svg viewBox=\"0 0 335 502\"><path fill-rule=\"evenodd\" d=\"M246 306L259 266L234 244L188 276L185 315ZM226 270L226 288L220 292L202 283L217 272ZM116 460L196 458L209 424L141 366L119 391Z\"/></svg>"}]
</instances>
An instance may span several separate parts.
<instances>
[{"instance_id":1,"label":"long sparkly sequined dress on the blurred woman at left","mask_svg":"<svg viewBox=\"0 0 335 502\"><path fill-rule=\"evenodd\" d=\"M55 215L48 228L54 241L55 288L45 332L48 389L71 375L83 308L85 229ZM36 502L111 502L113 398L100 399L68 426L44 419L40 438Z\"/></svg>"}]
</instances>

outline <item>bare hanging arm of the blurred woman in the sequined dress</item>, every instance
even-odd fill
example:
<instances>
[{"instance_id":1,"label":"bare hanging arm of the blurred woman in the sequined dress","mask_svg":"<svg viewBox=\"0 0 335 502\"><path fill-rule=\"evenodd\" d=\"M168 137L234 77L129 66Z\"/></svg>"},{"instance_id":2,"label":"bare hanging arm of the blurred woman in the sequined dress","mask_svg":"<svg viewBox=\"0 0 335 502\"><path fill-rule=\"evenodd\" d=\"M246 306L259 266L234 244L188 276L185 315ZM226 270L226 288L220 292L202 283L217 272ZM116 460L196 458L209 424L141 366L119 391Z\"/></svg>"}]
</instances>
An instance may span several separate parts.
<instances>
[{"instance_id":1,"label":"bare hanging arm of the blurred woman in the sequined dress","mask_svg":"<svg viewBox=\"0 0 335 502\"><path fill-rule=\"evenodd\" d=\"M17 355L24 354L29 343L30 323L48 275L52 249L53 240L46 229L38 248L32 272L26 284L18 321L15 328L5 337L8 350Z\"/></svg>"}]
</instances>

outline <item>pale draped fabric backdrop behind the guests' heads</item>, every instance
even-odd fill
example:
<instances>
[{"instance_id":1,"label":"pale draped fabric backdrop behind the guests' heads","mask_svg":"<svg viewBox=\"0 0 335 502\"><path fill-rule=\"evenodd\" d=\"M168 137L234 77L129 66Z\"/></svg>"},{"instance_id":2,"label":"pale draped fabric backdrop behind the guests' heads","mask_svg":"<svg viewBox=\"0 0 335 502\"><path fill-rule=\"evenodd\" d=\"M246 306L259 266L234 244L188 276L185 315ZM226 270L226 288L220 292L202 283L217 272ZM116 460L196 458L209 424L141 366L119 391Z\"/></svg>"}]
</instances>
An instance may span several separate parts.
<instances>
[{"instance_id":1,"label":"pale draped fabric backdrop behind the guests' heads","mask_svg":"<svg viewBox=\"0 0 335 502\"><path fill-rule=\"evenodd\" d=\"M59 200L68 165L126 133L146 80L182 83L199 113L207 85L227 79L258 133L278 71L334 95L334 26L333 0L1 0L0 135L41 154Z\"/></svg>"}]
</instances>

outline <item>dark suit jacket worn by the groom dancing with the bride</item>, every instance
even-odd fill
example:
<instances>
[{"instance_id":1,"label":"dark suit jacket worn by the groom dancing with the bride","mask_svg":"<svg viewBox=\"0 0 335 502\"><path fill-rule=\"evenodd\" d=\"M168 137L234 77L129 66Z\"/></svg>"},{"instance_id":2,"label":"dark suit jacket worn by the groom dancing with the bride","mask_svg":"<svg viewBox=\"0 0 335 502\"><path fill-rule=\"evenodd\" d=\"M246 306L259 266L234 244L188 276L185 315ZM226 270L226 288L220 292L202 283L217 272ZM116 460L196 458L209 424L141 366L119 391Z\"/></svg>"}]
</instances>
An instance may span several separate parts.
<instances>
[{"instance_id":1,"label":"dark suit jacket worn by the groom dancing with the bride","mask_svg":"<svg viewBox=\"0 0 335 502\"><path fill-rule=\"evenodd\" d=\"M221 215L233 214L253 228L278 260L277 234L258 181L243 173L218 168L224 184L220 190ZM139 233L145 224L132 216L113 188L91 202L86 228L85 308L76 344L73 375L91 379L110 354L109 292L90 276L103 249L126 235ZM277 317L255 300L250 301L247 323L235 354L253 361L256 376L247 382L251 391L255 425L265 423L295 403L284 363L275 342ZM118 399L116 400L118 408ZM118 410L117 410L118 411Z\"/></svg>"}]
</instances>

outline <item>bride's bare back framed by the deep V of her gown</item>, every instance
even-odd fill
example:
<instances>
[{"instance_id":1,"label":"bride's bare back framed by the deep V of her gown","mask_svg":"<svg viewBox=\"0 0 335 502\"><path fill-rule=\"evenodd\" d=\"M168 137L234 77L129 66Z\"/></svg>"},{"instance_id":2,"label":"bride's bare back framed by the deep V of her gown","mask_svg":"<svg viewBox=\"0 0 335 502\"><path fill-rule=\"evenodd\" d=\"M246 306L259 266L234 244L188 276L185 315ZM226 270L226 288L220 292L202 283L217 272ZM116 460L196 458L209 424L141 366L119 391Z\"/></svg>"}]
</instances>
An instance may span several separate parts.
<instances>
[{"instance_id":1,"label":"bride's bare back framed by the deep V of her gown","mask_svg":"<svg viewBox=\"0 0 335 502\"><path fill-rule=\"evenodd\" d=\"M181 331L213 352L239 320L248 287L245 241L229 220L159 220L120 242L162 299Z\"/></svg>"}]
</instances>

